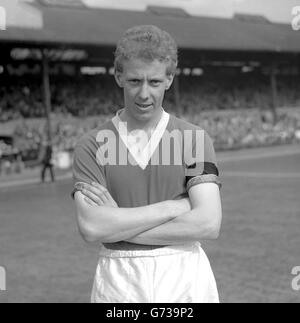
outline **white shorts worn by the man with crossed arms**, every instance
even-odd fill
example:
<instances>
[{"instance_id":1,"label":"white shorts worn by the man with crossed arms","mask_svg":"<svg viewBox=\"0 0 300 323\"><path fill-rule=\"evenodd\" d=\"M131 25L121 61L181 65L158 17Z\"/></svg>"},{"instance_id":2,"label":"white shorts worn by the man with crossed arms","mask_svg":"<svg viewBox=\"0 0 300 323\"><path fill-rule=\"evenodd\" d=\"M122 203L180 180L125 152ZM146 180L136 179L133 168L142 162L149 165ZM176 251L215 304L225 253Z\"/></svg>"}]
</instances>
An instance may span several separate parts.
<instances>
[{"instance_id":1,"label":"white shorts worn by the man with crossed arms","mask_svg":"<svg viewBox=\"0 0 300 323\"><path fill-rule=\"evenodd\" d=\"M200 243L154 250L102 247L92 303L218 303L209 260Z\"/></svg>"}]
</instances>

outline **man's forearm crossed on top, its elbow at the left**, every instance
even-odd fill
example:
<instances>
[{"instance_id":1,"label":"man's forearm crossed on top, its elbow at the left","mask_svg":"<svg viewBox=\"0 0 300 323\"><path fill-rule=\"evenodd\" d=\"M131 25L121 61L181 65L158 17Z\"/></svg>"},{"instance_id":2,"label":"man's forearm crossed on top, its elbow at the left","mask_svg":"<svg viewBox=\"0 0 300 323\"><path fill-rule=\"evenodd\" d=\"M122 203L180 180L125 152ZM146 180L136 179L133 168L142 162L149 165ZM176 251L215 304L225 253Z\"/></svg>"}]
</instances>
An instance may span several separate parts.
<instances>
[{"instance_id":1,"label":"man's forearm crossed on top, its elbow at the left","mask_svg":"<svg viewBox=\"0 0 300 323\"><path fill-rule=\"evenodd\" d=\"M78 212L78 222L83 231L90 235L91 241L112 243L130 239L173 220L186 209L187 203L182 201L163 201L137 208L84 205Z\"/></svg>"}]
</instances>

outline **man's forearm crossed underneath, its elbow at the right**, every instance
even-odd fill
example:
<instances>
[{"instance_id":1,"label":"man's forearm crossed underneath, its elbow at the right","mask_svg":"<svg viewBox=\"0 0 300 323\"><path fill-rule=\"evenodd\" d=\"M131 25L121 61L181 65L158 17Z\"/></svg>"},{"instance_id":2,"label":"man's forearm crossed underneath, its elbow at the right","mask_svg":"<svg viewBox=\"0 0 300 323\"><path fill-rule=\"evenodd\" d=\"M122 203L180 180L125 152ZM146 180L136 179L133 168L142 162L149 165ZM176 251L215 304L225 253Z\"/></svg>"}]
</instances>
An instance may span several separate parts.
<instances>
[{"instance_id":1,"label":"man's forearm crossed underneath, its elbow at the right","mask_svg":"<svg viewBox=\"0 0 300 323\"><path fill-rule=\"evenodd\" d=\"M221 219L204 212L199 209L192 210L126 241L145 245L178 245L202 239L216 239Z\"/></svg>"}]
</instances>

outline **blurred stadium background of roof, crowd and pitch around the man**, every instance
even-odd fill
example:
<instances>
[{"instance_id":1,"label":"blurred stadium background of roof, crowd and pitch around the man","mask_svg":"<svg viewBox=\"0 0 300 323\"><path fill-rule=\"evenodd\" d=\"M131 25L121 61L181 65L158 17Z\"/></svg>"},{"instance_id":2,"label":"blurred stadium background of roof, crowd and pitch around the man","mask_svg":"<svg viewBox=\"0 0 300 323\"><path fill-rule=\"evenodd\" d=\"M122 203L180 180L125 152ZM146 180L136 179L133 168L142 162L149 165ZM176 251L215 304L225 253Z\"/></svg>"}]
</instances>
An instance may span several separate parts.
<instances>
[{"instance_id":1,"label":"blurred stadium background of roof, crowd and pitch around the man","mask_svg":"<svg viewBox=\"0 0 300 323\"><path fill-rule=\"evenodd\" d=\"M122 107L113 52L138 24L177 41L164 108L204 128L217 150L223 233L205 250L221 301L299 302L297 1L0 0L0 8L0 302L88 301L98 246L76 229L72 153ZM46 142L55 183L47 176L41 185Z\"/></svg>"}]
</instances>

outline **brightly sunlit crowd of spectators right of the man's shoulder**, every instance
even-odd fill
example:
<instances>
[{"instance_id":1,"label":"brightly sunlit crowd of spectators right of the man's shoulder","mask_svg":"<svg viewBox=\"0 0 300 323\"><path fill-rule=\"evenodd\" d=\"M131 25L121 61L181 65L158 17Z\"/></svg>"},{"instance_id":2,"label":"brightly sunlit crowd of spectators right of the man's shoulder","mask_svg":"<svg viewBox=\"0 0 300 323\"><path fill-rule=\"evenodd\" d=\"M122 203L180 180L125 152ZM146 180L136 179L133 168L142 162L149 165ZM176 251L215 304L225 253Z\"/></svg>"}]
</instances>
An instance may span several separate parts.
<instances>
[{"instance_id":1,"label":"brightly sunlit crowd of spectators right of the man's shoulder","mask_svg":"<svg viewBox=\"0 0 300 323\"><path fill-rule=\"evenodd\" d=\"M270 111L257 109L188 114L186 119L207 130L217 150L226 150L300 142L300 111L291 111L279 111L276 122Z\"/></svg>"}]
</instances>

